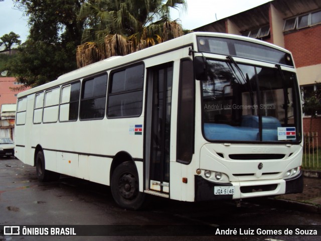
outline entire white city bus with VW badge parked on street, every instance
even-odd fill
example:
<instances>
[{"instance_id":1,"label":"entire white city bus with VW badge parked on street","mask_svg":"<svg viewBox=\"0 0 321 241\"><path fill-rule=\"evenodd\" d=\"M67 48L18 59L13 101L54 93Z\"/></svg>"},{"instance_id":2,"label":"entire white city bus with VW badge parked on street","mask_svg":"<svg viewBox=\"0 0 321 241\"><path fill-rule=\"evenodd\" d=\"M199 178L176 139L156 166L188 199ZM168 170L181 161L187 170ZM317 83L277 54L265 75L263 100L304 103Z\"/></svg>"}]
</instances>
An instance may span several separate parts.
<instances>
[{"instance_id":1,"label":"entire white city bus with VW badge parked on street","mask_svg":"<svg viewBox=\"0 0 321 241\"><path fill-rule=\"evenodd\" d=\"M138 209L301 192L301 102L291 53L191 33L18 94L15 154L40 181L111 186Z\"/></svg>"}]
</instances>

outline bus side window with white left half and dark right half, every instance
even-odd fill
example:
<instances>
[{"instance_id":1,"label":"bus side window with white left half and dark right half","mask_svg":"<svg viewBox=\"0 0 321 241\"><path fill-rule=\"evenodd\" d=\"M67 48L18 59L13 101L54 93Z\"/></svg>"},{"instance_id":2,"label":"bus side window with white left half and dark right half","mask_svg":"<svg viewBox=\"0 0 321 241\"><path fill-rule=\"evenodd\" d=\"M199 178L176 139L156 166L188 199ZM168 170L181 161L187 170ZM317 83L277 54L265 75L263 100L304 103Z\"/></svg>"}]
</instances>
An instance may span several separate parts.
<instances>
[{"instance_id":1,"label":"bus side window with white left half and dark right half","mask_svg":"<svg viewBox=\"0 0 321 241\"><path fill-rule=\"evenodd\" d=\"M77 121L79 110L80 81L62 87L59 121Z\"/></svg>"}]
</instances>

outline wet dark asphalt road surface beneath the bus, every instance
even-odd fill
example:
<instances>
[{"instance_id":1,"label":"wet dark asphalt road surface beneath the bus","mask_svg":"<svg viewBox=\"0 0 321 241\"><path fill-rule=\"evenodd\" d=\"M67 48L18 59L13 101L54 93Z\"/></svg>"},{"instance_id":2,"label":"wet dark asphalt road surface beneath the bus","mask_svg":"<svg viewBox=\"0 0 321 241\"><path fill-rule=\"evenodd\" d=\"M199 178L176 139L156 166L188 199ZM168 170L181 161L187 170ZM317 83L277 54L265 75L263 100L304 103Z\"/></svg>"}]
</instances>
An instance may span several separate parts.
<instances>
[{"instance_id":1,"label":"wet dark asphalt road surface beneath the bus","mask_svg":"<svg viewBox=\"0 0 321 241\"><path fill-rule=\"evenodd\" d=\"M8 236L7 240L209 240L208 236L163 236L172 232L167 225L321 225L320 215L279 208L266 203L187 203L152 197L142 211L118 207L109 187L62 176L56 182L40 183L34 167L17 159L0 158L0 225L166 225L164 234L128 236ZM121 226L124 229L130 226ZM319 226L318 226L319 227ZM147 231L147 230L146 230ZM191 230L189 230L191 231ZM166 234L169 232L168 234ZM175 232L174 232L175 233ZM184 232L183 232L184 233ZM187 232L189 233L189 232ZM157 235L155 235L157 234ZM321 234L320 234L321 235ZM210 240L321 240L321 236L210 236Z\"/></svg>"}]
</instances>

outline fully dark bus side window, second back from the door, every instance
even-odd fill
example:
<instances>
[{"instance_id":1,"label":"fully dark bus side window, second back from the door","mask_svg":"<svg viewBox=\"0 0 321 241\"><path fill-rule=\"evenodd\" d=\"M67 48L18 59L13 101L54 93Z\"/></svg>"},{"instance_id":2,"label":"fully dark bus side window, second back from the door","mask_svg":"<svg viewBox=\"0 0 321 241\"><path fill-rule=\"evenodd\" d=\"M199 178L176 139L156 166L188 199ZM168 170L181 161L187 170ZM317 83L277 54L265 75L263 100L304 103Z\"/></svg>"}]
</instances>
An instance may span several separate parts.
<instances>
[{"instance_id":1,"label":"fully dark bus side window, second back from the door","mask_svg":"<svg viewBox=\"0 0 321 241\"><path fill-rule=\"evenodd\" d=\"M89 77L82 85L80 119L102 119L106 106L107 74Z\"/></svg>"}]
</instances>

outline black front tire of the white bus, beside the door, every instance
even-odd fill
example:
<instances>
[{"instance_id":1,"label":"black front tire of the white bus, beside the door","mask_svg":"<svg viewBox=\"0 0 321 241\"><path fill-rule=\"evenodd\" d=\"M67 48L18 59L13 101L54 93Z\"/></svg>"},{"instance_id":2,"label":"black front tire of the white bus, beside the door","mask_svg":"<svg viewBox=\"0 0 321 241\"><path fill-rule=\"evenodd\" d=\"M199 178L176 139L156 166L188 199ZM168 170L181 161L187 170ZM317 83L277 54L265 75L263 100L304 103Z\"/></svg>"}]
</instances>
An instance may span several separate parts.
<instances>
[{"instance_id":1,"label":"black front tire of the white bus, beside the door","mask_svg":"<svg viewBox=\"0 0 321 241\"><path fill-rule=\"evenodd\" d=\"M139 192L139 180L133 162L123 162L111 176L111 194L115 202L126 209L140 209L145 201L145 193Z\"/></svg>"}]
</instances>

